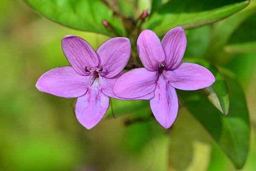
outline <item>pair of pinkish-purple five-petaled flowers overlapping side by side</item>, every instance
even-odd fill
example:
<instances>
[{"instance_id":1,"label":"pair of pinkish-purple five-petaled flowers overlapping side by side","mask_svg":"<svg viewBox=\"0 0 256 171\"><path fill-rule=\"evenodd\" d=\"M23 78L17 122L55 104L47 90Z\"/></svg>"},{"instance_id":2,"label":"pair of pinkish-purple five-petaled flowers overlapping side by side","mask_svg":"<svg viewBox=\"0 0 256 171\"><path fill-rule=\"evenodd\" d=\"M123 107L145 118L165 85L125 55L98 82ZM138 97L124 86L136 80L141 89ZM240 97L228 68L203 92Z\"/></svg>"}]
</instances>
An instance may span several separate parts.
<instances>
[{"instance_id":1,"label":"pair of pinkish-purple five-petaled flowers overlapping side by side","mask_svg":"<svg viewBox=\"0 0 256 171\"><path fill-rule=\"evenodd\" d=\"M137 50L145 68L122 72L131 55L127 38L111 38L96 52L76 36L66 36L62 50L71 66L44 73L38 90L64 98L77 98L76 117L85 128L93 128L105 115L109 97L122 100L150 100L151 110L164 128L175 121L178 99L175 88L198 90L215 78L206 68L182 63L186 35L181 27L171 29L160 42L151 30L144 30Z\"/></svg>"}]
</instances>

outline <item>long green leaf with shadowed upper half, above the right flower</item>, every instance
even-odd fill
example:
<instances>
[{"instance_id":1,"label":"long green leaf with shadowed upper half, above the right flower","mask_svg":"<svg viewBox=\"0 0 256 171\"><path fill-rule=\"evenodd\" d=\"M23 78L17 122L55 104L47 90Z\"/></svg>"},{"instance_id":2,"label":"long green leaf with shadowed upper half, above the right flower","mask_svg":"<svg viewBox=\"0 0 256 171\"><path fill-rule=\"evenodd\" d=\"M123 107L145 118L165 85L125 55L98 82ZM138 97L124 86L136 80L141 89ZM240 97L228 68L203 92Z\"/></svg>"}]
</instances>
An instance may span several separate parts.
<instances>
[{"instance_id":1,"label":"long green leaf with shadowed upper half, above the right flower","mask_svg":"<svg viewBox=\"0 0 256 171\"><path fill-rule=\"evenodd\" d=\"M152 14L146 28L163 35L175 26L198 27L224 19L248 3L249 0L172 0Z\"/></svg>"}]
</instances>

